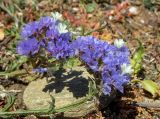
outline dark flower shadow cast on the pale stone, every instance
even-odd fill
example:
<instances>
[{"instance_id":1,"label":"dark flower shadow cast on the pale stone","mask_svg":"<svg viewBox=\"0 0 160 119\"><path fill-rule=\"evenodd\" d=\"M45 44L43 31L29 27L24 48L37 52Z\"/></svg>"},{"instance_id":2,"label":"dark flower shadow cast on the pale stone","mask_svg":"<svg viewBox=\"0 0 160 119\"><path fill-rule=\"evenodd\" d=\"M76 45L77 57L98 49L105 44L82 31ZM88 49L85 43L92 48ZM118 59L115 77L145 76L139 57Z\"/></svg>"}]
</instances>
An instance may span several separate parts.
<instances>
[{"instance_id":1,"label":"dark flower shadow cast on the pale stone","mask_svg":"<svg viewBox=\"0 0 160 119\"><path fill-rule=\"evenodd\" d=\"M88 93L88 79L82 75L83 71L70 71L64 73L60 70L55 73L55 78L43 89L44 92L60 93L65 87L73 93L75 98L86 96Z\"/></svg>"}]
</instances>

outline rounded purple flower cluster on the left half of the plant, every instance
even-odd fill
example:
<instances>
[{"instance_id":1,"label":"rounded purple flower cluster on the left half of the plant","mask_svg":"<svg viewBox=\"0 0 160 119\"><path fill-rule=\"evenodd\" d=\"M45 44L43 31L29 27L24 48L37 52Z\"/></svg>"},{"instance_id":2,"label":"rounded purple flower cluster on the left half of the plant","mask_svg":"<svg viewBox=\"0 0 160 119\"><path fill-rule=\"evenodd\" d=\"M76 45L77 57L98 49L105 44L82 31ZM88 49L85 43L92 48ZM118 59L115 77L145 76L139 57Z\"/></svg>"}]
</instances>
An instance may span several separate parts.
<instances>
[{"instance_id":1,"label":"rounded purple flower cluster on the left half of the plant","mask_svg":"<svg viewBox=\"0 0 160 119\"><path fill-rule=\"evenodd\" d=\"M52 17L42 17L39 21L26 24L22 28L23 40L19 43L17 52L33 56L40 51L40 48L44 48L56 59L72 56L71 33L64 28Z\"/></svg>"}]
</instances>

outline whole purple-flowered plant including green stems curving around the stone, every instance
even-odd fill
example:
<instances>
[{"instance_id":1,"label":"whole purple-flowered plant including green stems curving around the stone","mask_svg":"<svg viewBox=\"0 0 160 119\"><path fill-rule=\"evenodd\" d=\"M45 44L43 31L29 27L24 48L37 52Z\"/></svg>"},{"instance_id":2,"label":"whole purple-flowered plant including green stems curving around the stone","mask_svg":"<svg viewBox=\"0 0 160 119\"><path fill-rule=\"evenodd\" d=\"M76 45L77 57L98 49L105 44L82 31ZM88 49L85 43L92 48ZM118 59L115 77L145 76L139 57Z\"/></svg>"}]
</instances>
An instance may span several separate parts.
<instances>
[{"instance_id":1,"label":"whole purple-flowered plant including green stems curving around the stone","mask_svg":"<svg viewBox=\"0 0 160 119\"><path fill-rule=\"evenodd\" d=\"M36 73L53 76L57 70L65 71L65 67L72 69L73 66L80 65L94 76L89 79L88 95L59 109L54 106L52 97L49 109L4 111L0 112L0 116L65 112L93 97L110 95L113 89L123 93L124 85L130 82L130 52L122 39L116 39L114 44L108 44L93 36L78 36L72 39L72 33L60 17L59 13L55 13L52 17L45 16L26 24L21 31L22 40L16 47L16 55L19 57L11 63L10 71L0 72L0 76L32 76Z\"/></svg>"}]
</instances>

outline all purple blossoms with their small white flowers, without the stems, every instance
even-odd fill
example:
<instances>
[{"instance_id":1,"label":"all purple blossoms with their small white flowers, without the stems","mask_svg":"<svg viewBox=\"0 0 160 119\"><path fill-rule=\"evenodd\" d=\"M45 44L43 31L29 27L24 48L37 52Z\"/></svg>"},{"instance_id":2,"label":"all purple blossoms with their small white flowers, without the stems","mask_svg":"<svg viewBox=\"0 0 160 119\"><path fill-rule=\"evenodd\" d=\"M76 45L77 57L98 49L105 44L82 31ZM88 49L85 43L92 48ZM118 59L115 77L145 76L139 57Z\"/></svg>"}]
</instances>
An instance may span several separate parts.
<instances>
[{"instance_id":1,"label":"all purple blossoms with their small white flowers, without the stems","mask_svg":"<svg viewBox=\"0 0 160 119\"><path fill-rule=\"evenodd\" d=\"M132 68L130 52L122 39L108 44L93 36L79 36L72 40L72 33L59 20L60 14L42 17L38 21L26 24L22 28L22 41L17 46L20 55L32 57L47 52L56 60L79 57L92 73L100 76L104 94L110 94L112 88L123 92L123 86L130 81ZM47 68L34 69L43 73Z\"/></svg>"}]
</instances>

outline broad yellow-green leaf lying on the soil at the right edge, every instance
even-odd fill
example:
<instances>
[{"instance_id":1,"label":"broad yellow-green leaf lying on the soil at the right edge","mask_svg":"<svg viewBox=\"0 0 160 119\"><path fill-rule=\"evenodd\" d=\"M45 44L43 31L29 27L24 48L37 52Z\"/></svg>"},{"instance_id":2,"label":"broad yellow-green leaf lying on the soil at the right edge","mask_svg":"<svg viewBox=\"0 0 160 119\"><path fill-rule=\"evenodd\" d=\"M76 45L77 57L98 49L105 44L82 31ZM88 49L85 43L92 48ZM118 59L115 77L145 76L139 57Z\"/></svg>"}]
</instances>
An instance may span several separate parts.
<instances>
[{"instance_id":1,"label":"broad yellow-green leaf lying on the soil at the right edge","mask_svg":"<svg viewBox=\"0 0 160 119\"><path fill-rule=\"evenodd\" d=\"M153 82L152 80L143 80L141 81L141 85L144 90L151 93L153 96L156 96L159 91L159 86L157 83Z\"/></svg>"}]
</instances>

